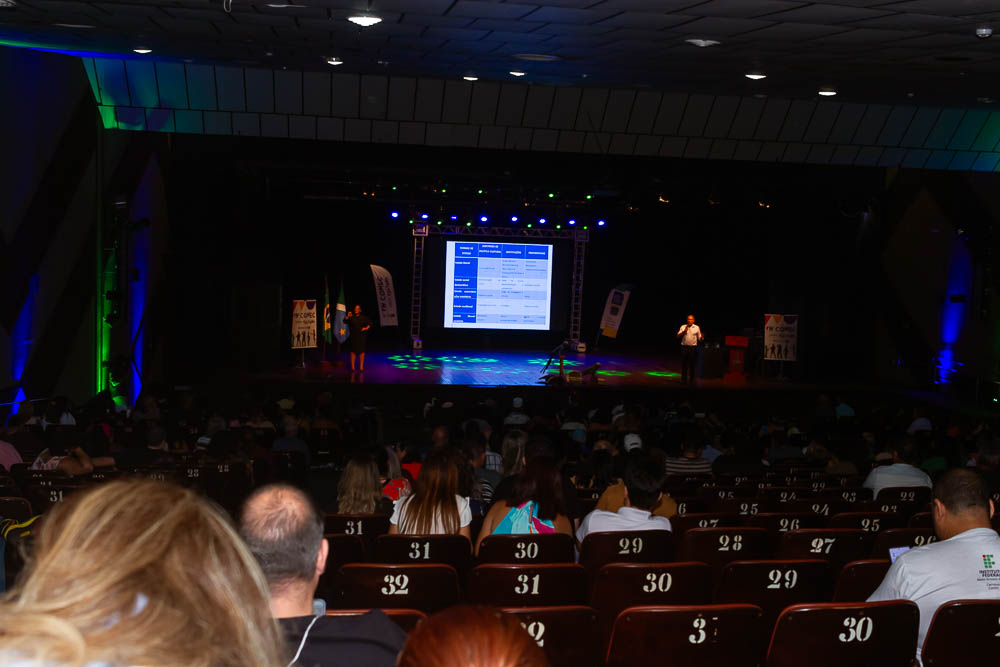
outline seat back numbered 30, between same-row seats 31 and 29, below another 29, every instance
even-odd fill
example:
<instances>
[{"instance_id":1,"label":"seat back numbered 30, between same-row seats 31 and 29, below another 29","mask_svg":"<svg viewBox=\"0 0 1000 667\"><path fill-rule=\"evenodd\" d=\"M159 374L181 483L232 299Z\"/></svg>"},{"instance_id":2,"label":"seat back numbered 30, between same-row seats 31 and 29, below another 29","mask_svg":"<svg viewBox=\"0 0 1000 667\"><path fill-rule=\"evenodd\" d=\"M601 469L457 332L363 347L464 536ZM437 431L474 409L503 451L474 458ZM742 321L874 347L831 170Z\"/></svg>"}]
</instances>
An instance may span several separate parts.
<instances>
[{"instance_id":1,"label":"seat back numbered 30, between same-row seats 31 and 29, below another 29","mask_svg":"<svg viewBox=\"0 0 1000 667\"><path fill-rule=\"evenodd\" d=\"M618 614L629 607L711 602L712 570L705 563L612 563L598 572L590 594L602 645Z\"/></svg>"}]
</instances>

